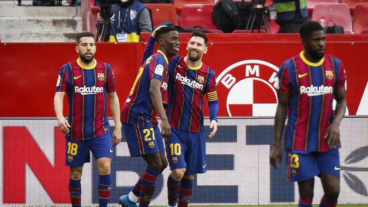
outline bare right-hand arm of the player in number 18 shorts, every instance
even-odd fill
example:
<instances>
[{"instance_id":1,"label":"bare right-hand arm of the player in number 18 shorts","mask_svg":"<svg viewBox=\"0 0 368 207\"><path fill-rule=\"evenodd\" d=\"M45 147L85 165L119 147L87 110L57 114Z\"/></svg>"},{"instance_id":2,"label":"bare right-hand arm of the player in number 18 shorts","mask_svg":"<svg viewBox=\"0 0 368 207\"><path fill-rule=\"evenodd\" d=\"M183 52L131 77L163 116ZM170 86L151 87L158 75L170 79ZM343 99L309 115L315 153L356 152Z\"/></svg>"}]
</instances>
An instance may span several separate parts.
<instances>
[{"instance_id":1,"label":"bare right-hand arm of the player in number 18 shorts","mask_svg":"<svg viewBox=\"0 0 368 207\"><path fill-rule=\"evenodd\" d=\"M109 101L110 101L111 113L113 115L114 122L115 122L115 130L112 136L113 146L115 146L119 144L121 141L120 105L119 105L119 99L115 91L109 93Z\"/></svg>"}]
</instances>

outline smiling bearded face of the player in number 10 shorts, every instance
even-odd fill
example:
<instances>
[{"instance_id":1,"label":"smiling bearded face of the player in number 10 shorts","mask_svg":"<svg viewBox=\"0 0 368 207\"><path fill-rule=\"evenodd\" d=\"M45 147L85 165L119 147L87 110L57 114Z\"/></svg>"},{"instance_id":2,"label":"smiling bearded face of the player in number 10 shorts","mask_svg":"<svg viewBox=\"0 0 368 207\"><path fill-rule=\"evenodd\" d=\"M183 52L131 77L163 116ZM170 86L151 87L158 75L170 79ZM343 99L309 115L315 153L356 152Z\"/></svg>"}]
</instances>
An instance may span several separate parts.
<instances>
[{"instance_id":1,"label":"smiling bearded face of the player in number 10 shorts","mask_svg":"<svg viewBox=\"0 0 368 207\"><path fill-rule=\"evenodd\" d=\"M191 61L196 62L202 58L203 54L207 53L207 45L203 38L199 36L192 36L188 42L187 50L188 58Z\"/></svg>"}]
</instances>

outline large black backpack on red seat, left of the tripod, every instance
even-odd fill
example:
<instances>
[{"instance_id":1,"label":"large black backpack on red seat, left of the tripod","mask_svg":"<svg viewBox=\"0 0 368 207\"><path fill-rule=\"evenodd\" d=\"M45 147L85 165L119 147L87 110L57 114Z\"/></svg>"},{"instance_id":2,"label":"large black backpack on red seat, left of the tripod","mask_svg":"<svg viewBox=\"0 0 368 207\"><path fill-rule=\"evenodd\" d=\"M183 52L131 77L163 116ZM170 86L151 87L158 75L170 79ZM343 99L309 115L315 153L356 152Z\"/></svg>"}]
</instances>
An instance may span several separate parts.
<instances>
[{"instance_id":1,"label":"large black backpack on red seat, left of the tripod","mask_svg":"<svg viewBox=\"0 0 368 207\"><path fill-rule=\"evenodd\" d=\"M212 21L225 33L245 29L251 8L249 1L219 0L212 9Z\"/></svg>"}]
</instances>

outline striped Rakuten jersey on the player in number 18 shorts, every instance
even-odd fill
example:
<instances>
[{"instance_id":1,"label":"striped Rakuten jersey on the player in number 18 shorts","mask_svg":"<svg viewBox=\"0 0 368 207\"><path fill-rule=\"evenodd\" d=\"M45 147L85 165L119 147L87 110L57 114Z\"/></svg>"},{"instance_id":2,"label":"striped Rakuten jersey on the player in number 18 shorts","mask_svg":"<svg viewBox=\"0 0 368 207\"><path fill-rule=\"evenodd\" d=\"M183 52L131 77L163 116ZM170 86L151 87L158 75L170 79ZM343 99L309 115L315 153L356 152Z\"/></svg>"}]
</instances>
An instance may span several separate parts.
<instances>
[{"instance_id":1,"label":"striped Rakuten jersey on the player in number 18 shorts","mask_svg":"<svg viewBox=\"0 0 368 207\"><path fill-rule=\"evenodd\" d=\"M56 92L67 92L68 122L66 138L82 141L109 133L106 94L116 91L114 74L109 64L93 59L91 67L80 59L61 66Z\"/></svg>"}]
</instances>

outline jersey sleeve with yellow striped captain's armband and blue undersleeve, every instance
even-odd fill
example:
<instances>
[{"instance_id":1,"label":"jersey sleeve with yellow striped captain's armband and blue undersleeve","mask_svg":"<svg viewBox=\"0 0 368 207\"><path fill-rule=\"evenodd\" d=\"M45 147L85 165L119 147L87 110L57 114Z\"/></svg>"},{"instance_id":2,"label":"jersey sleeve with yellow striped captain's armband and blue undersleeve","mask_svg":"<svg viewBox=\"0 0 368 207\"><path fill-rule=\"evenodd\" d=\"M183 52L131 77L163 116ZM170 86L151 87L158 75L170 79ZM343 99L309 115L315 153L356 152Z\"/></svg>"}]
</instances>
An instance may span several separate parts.
<instances>
[{"instance_id":1,"label":"jersey sleeve with yellow striped captain's armband and blue undersleeve","mask_svg":"<svg viewBox=\"0 0 368 207\"><path fill-rule=\"evenodd\" d=\"M209 118L210 120L217 121L217 113L219 112L219 99L217 98L215 73L213 73L213 76L210 78L206 95L208 100Z\"/></svg>"}]
</instances>

